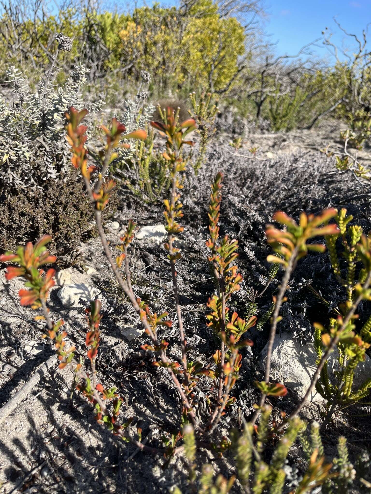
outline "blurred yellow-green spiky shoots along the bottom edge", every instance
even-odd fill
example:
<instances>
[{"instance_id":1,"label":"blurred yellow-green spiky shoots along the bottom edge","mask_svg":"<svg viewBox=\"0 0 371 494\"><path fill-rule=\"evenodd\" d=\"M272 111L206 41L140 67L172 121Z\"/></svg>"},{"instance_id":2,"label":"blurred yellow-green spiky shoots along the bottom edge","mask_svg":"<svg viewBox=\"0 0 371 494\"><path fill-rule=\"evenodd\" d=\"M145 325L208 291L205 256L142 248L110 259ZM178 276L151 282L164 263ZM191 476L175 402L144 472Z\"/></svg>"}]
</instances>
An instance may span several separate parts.
<instances>
[{"instance_id":1,"label":"blurred yellow-green spiky shoots along the bottom edge","mask_svg":"<svg viewBox=\"0 0 371 494\"><path fill-rule=\"evenodd\" d=\"M235 466L238 481L243 492L252 494L282 494L286 479L284 469L287 456L296 439L300 440L307 459L306 470L297 487L291 494L305 494L312 492L314 487L323 484L331 488L331 479L342 475L343 483L351 483L354 479L353 465L349 463L346 442L339 441L338 457L335 469L339 472L331 472L332 463L325 460L324 447L322 445L319 424L312 425L310 437L306 429L307 424L299 418L290 421L284 434L276 441L273 455L267 462L265 457L266 445L276 437L272 422L272 408L264 407L257 430L251 422L245 423L242 432L234 431L232 445L234 449ZM185 427L185 455L189 464L194 461L194 437L192 427ZM192 483L192 492L198 494L227 494L235 485L235 476L226 479L222 475L215 475L212 465L205 464L198 480L198 489L195 482L194 465L189 475ZM177 487L173 494L182 494ZM332 492L332 491L329 491Z\"/></svg>"}]
</instances>

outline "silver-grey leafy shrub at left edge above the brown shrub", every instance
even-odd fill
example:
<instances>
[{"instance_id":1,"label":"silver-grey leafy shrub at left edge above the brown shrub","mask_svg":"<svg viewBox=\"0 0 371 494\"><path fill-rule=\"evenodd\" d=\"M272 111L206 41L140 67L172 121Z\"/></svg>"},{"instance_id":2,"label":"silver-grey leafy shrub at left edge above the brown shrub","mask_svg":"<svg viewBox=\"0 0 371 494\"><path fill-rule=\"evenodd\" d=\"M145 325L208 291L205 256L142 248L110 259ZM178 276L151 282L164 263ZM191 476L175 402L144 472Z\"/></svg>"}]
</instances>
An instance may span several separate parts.
<instances>
[{"instance_id":1,"label":"silver-grey leafy shrub at left edge above the brown shrub","mask_svg":"<svg viewBox=\"0 0 371 494\"><path fill-rule=\"evenodd\" d=\"M74 68L58 87L54 74L46 74L36 91L19 69L9 67L9 92L0 95L0 182L2 191L11 188L41 187L46 180L63 179L70 166L65 139L65 112L84 108L82 86L86 82L83 65ZM99 111L104 100L91 105Z\"/></svg>"}]
</instances>

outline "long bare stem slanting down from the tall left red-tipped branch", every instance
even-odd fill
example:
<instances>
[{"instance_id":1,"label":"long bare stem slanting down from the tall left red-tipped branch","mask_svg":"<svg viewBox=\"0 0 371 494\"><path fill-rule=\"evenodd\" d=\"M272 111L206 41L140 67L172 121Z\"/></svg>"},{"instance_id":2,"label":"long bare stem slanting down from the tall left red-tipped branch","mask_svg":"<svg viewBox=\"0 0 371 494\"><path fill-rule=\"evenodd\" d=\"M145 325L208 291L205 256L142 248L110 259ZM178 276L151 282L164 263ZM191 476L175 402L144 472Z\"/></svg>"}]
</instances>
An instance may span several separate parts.
<instances>
[{"instance_id":1,"label":"long bare stem slanting down from the tall left red-tipped branch","mask_svg":"<svg viewBox=\"0 0 371 494\"><path fill-rule=\"evenodd\" d=\"M92 204L94 206L95 201L94 201L94 198L93 198L93 191L92 191L92 188L91 188L89 179L87 177L84 177L84 182L85 182L86 189L87 189L87 191L89 193L90 199L92 201ZM114 275L116 276L116 279L119 282L120 287L123 289L123 291L125 292L125 294L129 297L131 303L133 304L133 307L137 311L137 314L139 315L139 319L140 319L142 325L144 326L144 328L147 330L147 334L151 338L152 342L156 346L160 346L160 343L158 342L156 335L154 334L154 332L150 328L150 326L149 326L146 318L141 315L141 312L142 311L141 311L141 309L139 307L139 304L137 302L137 299L136 299L136 297L134 295L133 290L130 290L129 289L128 285L124 282L124 280L122 279L122 276L120 275L120 272L117 269L117 265L115 264L115 262L114 262L114 260L112 258L112 254L111 254L111 251L110 251L110 249L108 247L107 240L106 240L106 237L105 237L105 234L104 234L104 230L103 230L103 226L102 226L102 221L101 221L101 213L100 213L100 211L98 211L95 208L95 206L94 206L94 213L95 213L95 223L96 223L96 227L98 229L99 237L100 237L102 246L104 248L104 253L105 253L106 257L107 257L108 262L111 265L112 271L113 271ZM163 350L160 350L158 353L159 353L159 356L160 356L161 361L164 364L168 364L168 359L167 359L164 351ZM185 396L184 390L183 390L182 385L179 382L177 376L175 375L174 371L170 367L166 367L166 370L169 372L169 374L170 374L170 376L171 376L171 378L172 378L172 380L173 380L176 388L178 389L178 391L179 391L179 393L180 393L180 395L182 397L182 400L185 403L185 406L187 408L187 412L188 412L188 414L189 414L189 416L190 416L190 418L192 420L192 423L193 423L194 427L199 432L203 432L202 429L199 427L199 425L197 423L197 417L196 417L195 413L193 412L192 407L191 407L191 405L190 405L187 397Z\"/></svg>"}]
</instances>

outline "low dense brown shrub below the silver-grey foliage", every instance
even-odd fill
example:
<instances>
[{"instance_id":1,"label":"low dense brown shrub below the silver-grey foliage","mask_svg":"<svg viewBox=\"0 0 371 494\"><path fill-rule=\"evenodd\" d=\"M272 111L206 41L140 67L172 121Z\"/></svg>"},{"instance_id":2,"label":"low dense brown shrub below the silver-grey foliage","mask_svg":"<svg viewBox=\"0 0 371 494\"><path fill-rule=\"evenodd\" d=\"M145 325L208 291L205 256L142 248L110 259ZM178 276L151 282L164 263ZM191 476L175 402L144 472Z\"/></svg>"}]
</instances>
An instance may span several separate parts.
<instances>
[{"instance_id":1,"label":"low dense brown shrub below the silver-grey foliage","mask_svg":"<svg viewBox=\"0 0 371 494\"><path fill-rule=\"evenodd\" d=\"M111 206L106 216L114 203ZM57 262L69 266L79 261L79 244L96 236L93 219L84 186L75 170L69 170L64 181L49 180L43 189L18 189L0 200L0 249L13 250L49 234Z\"/></svg>"}]
</instances>

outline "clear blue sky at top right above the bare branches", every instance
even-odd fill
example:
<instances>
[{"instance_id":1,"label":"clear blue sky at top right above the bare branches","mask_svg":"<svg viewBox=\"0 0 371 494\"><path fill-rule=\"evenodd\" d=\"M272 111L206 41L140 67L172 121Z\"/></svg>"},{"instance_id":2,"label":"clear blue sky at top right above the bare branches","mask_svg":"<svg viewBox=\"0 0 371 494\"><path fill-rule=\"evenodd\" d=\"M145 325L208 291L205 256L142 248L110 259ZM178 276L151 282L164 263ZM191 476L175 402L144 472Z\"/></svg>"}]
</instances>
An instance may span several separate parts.
<instances>
[{"instance_id":1,"label":"clear blue sky at top right above the bare branches","mask_svg":"<svg viewBox=\"0 0 371 494\"><path fill-rule=\"evenodd\" d=\"M347 37L336 26L333 16L347 32L359 37L371 22L371 0L267 0L266 10L265 31L272 42L278 41L276 51L280 55L295 53L304 44L321 38L325 27L341 46ZM369 31L371 42L371 26ZM355 48L354 40L346 40L346 44ZM314 49L321 57L328 53L324 48Z\"/></svg>"}]
</instances>

